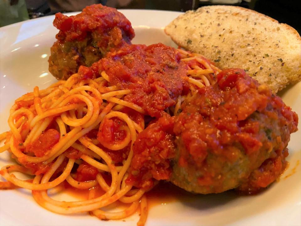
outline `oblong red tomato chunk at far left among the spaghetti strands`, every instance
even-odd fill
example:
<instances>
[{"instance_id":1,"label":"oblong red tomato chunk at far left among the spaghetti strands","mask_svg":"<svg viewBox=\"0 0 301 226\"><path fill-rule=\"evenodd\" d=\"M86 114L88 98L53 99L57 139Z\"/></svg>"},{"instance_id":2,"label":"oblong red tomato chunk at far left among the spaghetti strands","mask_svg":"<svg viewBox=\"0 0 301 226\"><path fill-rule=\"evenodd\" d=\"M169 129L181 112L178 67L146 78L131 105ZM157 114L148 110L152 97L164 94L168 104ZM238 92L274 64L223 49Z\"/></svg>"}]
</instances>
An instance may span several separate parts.
<instances>
[{"instance_id":1,"label":"oblong red tomato chunk at far left among the spaghetti strands","mask_svg":"<svg viewBox=\"0 0 301 226\"><path fill-rule=\"evenodd\" d=\"M34 153L37 157L44 156L56 143L60 133L55 129L48 129L26 147L26 152Z\"/></svg>"}]
</instances>

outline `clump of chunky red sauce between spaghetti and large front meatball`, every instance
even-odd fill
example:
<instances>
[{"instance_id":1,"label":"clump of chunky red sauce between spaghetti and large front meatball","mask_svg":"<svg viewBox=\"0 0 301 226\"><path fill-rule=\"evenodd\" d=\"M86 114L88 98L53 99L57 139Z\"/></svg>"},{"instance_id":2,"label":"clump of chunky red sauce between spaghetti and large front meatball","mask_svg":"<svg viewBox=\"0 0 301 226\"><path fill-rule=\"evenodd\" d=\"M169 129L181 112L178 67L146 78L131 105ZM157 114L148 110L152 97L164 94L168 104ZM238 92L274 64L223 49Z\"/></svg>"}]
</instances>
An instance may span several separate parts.
<instances>
[{"instance_id":1,"label":"clump of chunky red sauce between spaghetti and large front meatball","mask_svg":"<svg viewBox=\"0 0 301 226\"><path fill-rule=\"evenodd\" d=\"M167 180L171 175L169 159L174 158L173 118L161 117L140 132L134 143L134 156L128 184L150 188L155 180Z\"/></svg>"}]
</instances>

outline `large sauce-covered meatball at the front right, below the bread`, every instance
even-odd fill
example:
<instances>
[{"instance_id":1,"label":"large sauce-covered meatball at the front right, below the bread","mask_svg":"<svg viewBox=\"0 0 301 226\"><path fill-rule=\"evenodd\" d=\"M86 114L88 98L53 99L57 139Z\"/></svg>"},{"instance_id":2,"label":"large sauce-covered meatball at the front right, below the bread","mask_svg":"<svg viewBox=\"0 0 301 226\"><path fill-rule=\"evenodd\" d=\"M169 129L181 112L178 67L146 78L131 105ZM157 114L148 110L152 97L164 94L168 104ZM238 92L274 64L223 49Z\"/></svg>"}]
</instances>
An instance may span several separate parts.
<instances>
[{"instance_id":1,"label":"large sauce-covered meatball at the front right, below the bread","mask_svg":"<svg viewBox=\"0 0 301 226\"><path fill-rule=\"evenodd\" d=\"M201 194L267 187L286 167L286 147L298 124L297 114L280 97L241 69L222 71L217 83L185 100L178 116L165 124L160 120L138 135L133 160L144 163L139 169L133 161L129 183L152 186L163 163L164 180ZM151 143L159 133L160 140ZM164 156L160 143L166 137L169 154ZM159 159L148 154L155 152Z\"/></svg>"}]
</instances>

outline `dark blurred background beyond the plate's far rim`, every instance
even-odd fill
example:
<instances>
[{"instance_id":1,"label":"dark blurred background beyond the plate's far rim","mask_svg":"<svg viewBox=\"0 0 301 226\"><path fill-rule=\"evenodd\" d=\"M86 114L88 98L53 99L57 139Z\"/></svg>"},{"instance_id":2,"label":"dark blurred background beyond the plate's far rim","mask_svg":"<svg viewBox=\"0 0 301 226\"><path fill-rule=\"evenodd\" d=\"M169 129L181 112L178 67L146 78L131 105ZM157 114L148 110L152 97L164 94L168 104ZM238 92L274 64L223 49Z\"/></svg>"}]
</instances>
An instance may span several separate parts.
<instances>
[{"instance_id":1,"label":"dark blurred background beyond the plate's far rim","mask_svg":"<svg viewBox=\"0 0 301 226\"><path fill-rule=\"evenodd\" d=\"M185 12L205 5L225 4L250 8L286 23L301 33L300 0L0 0L0 27L57 12L81 11L101 3L114 8L158 9Z\"/></svg>"}]
</instances>

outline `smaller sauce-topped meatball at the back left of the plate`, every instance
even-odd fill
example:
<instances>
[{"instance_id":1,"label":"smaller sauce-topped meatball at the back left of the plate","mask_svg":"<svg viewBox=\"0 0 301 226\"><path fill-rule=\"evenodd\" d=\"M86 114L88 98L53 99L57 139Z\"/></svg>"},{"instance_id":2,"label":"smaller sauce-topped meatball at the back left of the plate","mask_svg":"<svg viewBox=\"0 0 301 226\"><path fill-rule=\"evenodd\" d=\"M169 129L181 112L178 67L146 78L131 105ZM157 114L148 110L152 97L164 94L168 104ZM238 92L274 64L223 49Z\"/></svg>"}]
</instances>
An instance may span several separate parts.
<instances>
[{"instance_id":1,"label":"smaller sauce-topped meatball at the back left of the plate","mask_svg":"<svg viewBox=\"0 0 301 226\"><path fill-rule=\"evenodd\" d=\"M87 6L76 16L56 13L53 25L60 31L50 49L49 71L63 80L81 65L90 67L110 49L130 44L135 36L122 13L101 4Z\"/></svg>"}]
</instances>

